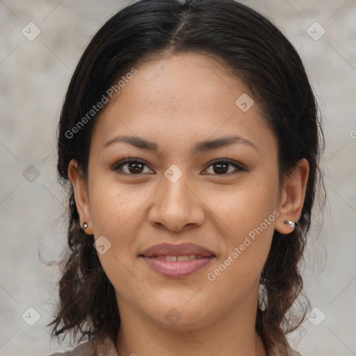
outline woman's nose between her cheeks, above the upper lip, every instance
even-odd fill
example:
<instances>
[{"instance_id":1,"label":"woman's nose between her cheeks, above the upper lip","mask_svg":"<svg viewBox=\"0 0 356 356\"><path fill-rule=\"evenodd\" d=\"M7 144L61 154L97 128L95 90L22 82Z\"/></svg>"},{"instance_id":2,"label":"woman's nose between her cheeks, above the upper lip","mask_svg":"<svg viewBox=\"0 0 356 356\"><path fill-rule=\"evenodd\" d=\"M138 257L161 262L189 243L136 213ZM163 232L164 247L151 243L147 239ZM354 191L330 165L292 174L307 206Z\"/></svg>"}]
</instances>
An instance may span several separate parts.
<instances>
[{"instance_id":1,"label":"woman's nose between her cheeks, above the upper lip","mask_svg":"<svg viewBox=\"0 0 356 356\"><path fill-rule=\"evenodd\" d=\"M163 179L163 186L152 197L153 204L148 213L152 226L180 232L204 222L204 203L197 189L184 176L187 175L183 175L175 183Z\"/></svg>"}]
</instances>

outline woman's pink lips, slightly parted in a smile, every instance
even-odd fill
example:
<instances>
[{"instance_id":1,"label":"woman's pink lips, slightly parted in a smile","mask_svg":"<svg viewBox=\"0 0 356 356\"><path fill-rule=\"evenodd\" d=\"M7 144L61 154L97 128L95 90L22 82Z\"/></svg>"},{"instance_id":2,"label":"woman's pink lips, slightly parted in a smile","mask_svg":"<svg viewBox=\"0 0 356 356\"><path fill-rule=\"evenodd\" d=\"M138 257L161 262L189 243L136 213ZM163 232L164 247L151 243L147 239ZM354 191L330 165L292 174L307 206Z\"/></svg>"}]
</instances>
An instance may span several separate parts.
<instances>
[{"instance_id":1,"label":"woman's pink lips, slightly parted in a smile","mask_svg":"<svg viewBox=\"0 0 356 356\"><path fill-rule=\"evenodd\" d=\"M191 254L200 257L188 261L165 261L165 259L159 258L160 256L187 256ZM180 278L204 269L216 256L207 248L193 243L179 245L161 243L147 248L140 254L140 257L156 273L165 277Z\"/></svg>"}]
</instances>

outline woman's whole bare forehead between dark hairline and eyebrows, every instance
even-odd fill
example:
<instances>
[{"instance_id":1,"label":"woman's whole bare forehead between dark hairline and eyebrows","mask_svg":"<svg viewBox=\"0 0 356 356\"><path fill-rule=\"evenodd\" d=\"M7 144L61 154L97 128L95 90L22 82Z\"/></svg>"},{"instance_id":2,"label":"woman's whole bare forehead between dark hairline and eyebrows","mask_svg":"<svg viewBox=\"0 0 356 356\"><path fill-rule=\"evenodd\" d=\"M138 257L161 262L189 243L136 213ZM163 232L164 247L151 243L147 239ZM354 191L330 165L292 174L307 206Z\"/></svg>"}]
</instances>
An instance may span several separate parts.
<instances>
[{"instance_id":1,"label":"woman's whole bare forehead between dark hairline and eyebrows","mask_svg":"<svg viewBox=\"0 0 356 356\"><path fill-rule=\"evenodd\" d=\"M135 68L95 125L101 144L114 133L180 144L232 131L254 140L273 136L247 86L206 56L175 54Z\"/></svg>"}]
</instances>

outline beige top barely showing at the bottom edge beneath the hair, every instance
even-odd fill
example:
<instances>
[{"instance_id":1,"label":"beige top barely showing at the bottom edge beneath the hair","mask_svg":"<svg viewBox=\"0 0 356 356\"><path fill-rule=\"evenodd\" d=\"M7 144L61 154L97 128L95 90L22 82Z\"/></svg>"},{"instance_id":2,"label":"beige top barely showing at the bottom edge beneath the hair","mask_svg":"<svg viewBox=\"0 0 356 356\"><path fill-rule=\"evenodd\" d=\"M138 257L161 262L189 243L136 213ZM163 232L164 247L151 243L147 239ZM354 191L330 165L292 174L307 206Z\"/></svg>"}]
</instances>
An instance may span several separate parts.
<instances>
[{"instance_id":1,"label":"beige top barely showing at the bottom edge beneath the hair","mask_svg":"<svg viewBox=\"0 0 356 356\"><path fill-rule=\"evenodd\" d=\"M134 353L133 353L134 355ZM76 346L74 350L66 353L54 353L50 356L118 356L115 345L110 339L106 339L103 343L95 343L95 341L88 341ZM273 353L270 356L301 356L296 350L289 347L288 355L281 355Z\"/></svg>"}]
</instances>

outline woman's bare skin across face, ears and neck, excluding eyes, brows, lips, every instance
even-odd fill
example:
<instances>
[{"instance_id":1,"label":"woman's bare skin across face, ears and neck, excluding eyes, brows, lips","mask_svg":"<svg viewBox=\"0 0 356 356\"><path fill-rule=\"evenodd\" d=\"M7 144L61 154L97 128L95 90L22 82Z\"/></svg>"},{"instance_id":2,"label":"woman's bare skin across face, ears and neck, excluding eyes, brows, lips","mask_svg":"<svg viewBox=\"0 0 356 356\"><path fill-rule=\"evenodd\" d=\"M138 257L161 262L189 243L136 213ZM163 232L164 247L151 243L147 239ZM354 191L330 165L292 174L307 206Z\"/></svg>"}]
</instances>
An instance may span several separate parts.
<instances>
[{"instance_id":1,"label":"woman's bare skin across face, ears and neck, excluding eyes, brows, lips","mask_svg":"<svg viewBox=\"0 0 356 356\"><path fill-rule=\"evenodd\" d=\"M254 330L259 277L274 229L289 234L293 229L284 220L300 218L309 165L302 159L280 184L277 140L257 100L241 111L236 99L252 94L213 60L171 54L136 68L95 124L88 177L75 161L68 168L81 225L87 220L87 234L111 242L98 255L118 300L118 355L180 356L189 350L195 356L264 356ZM118 142L104 147L118 135L154 141L159 150ZM191 153L195 143L225 136L241 136L252 145L237 142ZM128 157L145 162L140 174L129 164L121 173L111 169ZM219 175L214 159L230 159L245 169L227 165ZM164 175L173 164L182 173L175 183ZM273 223L216 280L208 280L207 273L273 211L280 213ZM163 242L196 243L216 257L193 275L164 277L138 257ZM165 318L172 307L181 316L175 325Z\"/></svg>"}]
</instances>

